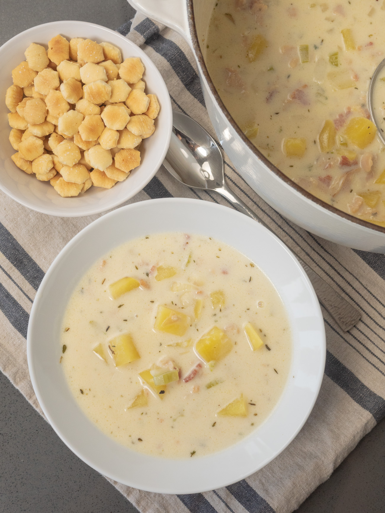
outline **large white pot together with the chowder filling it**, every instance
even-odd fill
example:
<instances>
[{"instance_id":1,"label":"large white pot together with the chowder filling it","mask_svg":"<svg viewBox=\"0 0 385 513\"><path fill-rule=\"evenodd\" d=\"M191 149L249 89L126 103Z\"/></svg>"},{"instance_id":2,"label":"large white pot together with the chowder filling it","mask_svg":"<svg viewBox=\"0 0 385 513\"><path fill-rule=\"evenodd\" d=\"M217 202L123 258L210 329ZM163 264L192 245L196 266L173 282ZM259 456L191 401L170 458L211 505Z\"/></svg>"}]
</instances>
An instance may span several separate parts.
<instances>
[{"instance_id":1,"label":"large white pot together with the chowder filling it","mask_svg":"<svg viewBox=\"0 0 385 513\"><path fill-rule=\"evenodd\" d=\"M325 239L385 250L385 148L368 110L385 4L130 3L186 37L219 140L269 205ZM379 119L382 98L378 87Z\"/></svg>"}]
</instances>

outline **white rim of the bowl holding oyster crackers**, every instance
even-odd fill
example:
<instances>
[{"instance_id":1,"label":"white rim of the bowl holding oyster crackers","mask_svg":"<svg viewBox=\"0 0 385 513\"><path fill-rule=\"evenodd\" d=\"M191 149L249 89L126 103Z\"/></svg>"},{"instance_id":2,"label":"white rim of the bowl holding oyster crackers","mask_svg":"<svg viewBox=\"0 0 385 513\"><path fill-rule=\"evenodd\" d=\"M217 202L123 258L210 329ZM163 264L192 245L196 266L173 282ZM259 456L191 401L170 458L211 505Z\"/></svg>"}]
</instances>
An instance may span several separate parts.
<instances>
[{"instance_id":1,"label":"white rim of the bowl holding oyster crackers","mask_svg":"<svg viewBox=\"0 0 385 513\"><path fill-rule=\"evenodd\" d=\"M162 77L160 71L158 70L156 65L151 61L151 58L138 45L133 43L131 40L127 39L127 37L125 37L124 35L120 34L116 30L109 29L108 27L104 27L103 25L98 25L96 23L82 22L82 21L75 21L75 20L60 20L60 21L48 22L48 23L43 23L43 24L40 24L40 25L35 25L33 27L30 27L29 29L24 30L23 32L20 32L20 33L14 35L10 40L8 40L6 43L4 43L0 47L0 55L1 55L1 53L3 51L7 51L7 48L12 46L12 44L15 41L19 40L21 38L21 36L27 36L30 32L33 32L36 29L39 29L39 28L42 28L42 27L48 27L48 26L51 26L51 27L56 27L56 26L57 27L61 27L61 26L63 26L63 24L68 24L68 23L73 24L73 25L79 25L79 26L85 26L86 25L88 27L94 27L94 28L96 28L98 30L99 29L103 29L106 32L114 34L114 36L118 35L119 38L121 38L125 43L128 42L130 45L135 46L138 49L138 53L140 53L142 55L142 57L146 61L149 61L151 63L151 65L152 65L151 73L155 73L157 75L157 78L158 78L160 84L162 86L164 86L164 88L168 92L167 86L166 86L166 84L165 84L165 82L163 80L163 77ZM60 30L59 30L59 32L60 32ZM21 205L23 205L25 207L28 207L31 210L34 210L36 212L41 212L41 213L44 213L44 214L48 214L48 215L53 215L53 216L68 217L68 218L84 217L84 216L87 216L87 215L99 214L99 213L102 213L102 212L106 212L107 210L119 207L122 203L130 200L134 195L138 194L141 190L143 190L143 188L155 176L155 174L159 170L160 166L162 165L164 157L166 156L166 153L167 153L167 150L168 150L168 146L169 146L169 143L170 143L171 131L172 131L172 106L171 106L171 101L170 101L170 98L169 98L168 94L167 94L167 97L168 97L167 104L165 104L165 105L162 104L162 111L164 111L167 114L167 117L166 117L167 123L165 123L165 127L164 127L164 133L167 134L167 137L165 139L164 149L159 154L158 159L155 161L155 164L153 165L153 171L151 173L149 173L147 175L146 179L143 180L136 188L132 189L125 198L119 199L119 200L114 201L114 202L111 202L106 207L95 207L93 209L89 209L85 213L76 212L75 209L74 210L69 209L68 211L66 211L66 213L63 213L63 211L60 211L60 212L55 211L54 206L52 206L51 208L49 208L49 207L39 207L37 205L34 205L33 202L30 202L27 199L22 199L22 198L18 197L12 191L10 191L6 187L4 187L1 181L0 181L0 190L2 190L5 194L7 194L10 198L12 198L17 203L20 203Z\"/></svg>"}]
</instances>

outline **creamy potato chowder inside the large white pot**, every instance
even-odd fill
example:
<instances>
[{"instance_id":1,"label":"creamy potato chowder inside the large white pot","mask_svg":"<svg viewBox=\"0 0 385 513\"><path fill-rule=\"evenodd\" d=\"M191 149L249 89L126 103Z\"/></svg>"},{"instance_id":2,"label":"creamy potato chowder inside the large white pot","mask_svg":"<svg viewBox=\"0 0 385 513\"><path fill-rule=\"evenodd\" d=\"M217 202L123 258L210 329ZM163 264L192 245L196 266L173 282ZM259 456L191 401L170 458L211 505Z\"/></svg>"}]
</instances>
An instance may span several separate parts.
<instances>
[{"instance_id":1,"label":"creamy potato chowder inside the large white pot","mask_svg":"<svg viewBox=\"0 0 385 513\"><path fill-rule=\"evenodd\" d=\"M204 42L249 140L307 191L382 226L385 152L367 93L385 57L384 9L383 0L218 0Z\"/></svg>"}]
</instances>

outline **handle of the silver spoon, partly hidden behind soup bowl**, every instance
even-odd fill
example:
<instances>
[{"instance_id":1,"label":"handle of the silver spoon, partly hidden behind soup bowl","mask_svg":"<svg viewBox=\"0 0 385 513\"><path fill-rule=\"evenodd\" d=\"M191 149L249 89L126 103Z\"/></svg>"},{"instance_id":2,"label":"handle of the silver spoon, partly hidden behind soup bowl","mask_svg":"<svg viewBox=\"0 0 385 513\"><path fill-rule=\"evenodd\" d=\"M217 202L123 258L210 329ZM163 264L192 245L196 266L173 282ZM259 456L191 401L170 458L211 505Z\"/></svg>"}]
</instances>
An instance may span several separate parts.
<instances>
[{"instance_id":1,"label":"handle of the silver spoon, partly hidden behind soup bowl","mask_svg":"<svg viewBox=\"0 0 385 513\"><path fill-rule=\"evenodd\" d=\"M253 210L249 209L248 206L243 203L243 201L238 198L238 196L234 194L234 192L230 190L226 184L224 184L223 187L216 188L215 190L231 203L233 203L233 205L241 210L244 214L253 218L255 221L258 221L258 223L270 230L270 228L258 217L258 215L253 212ZM328 312L332 315L338 326L343 331L348 331L353 328L353 326L361 319L361 313L350 303L348 303L348 301L342 298L342 296L336 292L333 287L326 283L319 276L319 274L317 274L317 272L305 264L295 251L292 250L292 252L296 255L299 263L306 271L307 276L309 277L309 280L311 281L314 290L316 291L320 303L322 303L326 310L328 310Z\"/></svg>"}]
</instances>

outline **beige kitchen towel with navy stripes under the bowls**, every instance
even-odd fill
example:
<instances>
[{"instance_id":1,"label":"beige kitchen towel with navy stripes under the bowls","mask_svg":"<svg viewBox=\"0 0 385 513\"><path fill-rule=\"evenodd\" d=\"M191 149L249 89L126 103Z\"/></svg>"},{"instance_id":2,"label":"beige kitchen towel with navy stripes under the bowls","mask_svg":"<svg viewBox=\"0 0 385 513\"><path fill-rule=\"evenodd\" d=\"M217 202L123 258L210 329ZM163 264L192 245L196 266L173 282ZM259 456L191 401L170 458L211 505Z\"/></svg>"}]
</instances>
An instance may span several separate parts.
<instances>
[{"instance_id":1,"label":"beige kitchen towel with navy stripes under the bowls","mask_svg":"<svg viewBox=\"0 0 385 513\"><path fill-rule=\"evenodd\" d=\"M120 31L156 63L174 109L187 113L215 136L187 43L140 14ZM321 391L299 435L274 461L239 483L203 494L152 494L112 482L145 513L290 513L385 415L385 257L338 246L289 223L258 198L224 157L230 187L287 246L355 304L362 319L344 333L323 311L328 352ZM128 203L170 196L230 206L211 192L185 188L164 168ZM0 369L42 413L27 367L28 314L52 260L98 216L53 218L28 210L2 192L0 202Z\"/></svg>"}]
</instances>

